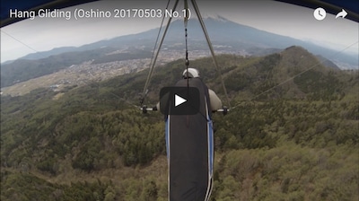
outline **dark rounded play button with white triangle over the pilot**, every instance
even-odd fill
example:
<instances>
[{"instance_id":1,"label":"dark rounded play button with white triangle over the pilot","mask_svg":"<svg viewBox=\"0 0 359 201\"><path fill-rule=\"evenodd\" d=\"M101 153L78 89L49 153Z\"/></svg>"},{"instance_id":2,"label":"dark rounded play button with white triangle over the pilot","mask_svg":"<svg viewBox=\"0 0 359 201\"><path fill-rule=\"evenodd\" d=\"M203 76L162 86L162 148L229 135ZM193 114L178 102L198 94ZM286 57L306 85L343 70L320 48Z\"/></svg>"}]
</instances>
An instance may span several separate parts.
<instances>
[{"instance_id":1,"label":"dark rounded play button with white triangle over the pilot","mask_svg":"<svg viewBox=\"0 0 359 201\"><path fill-rule=\"evenodd\" d=\"M194 115L199 111L199 91L196 87L163 87L160 110L164 115Z\"/></svg>"}]
</instances>

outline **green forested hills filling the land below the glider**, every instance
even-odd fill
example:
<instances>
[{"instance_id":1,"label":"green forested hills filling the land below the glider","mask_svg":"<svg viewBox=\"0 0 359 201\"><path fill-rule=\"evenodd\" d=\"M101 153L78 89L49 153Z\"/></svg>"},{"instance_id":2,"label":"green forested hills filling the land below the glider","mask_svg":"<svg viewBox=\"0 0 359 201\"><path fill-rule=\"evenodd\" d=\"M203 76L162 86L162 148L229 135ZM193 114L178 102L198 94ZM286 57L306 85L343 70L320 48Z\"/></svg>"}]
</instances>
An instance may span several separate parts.
<instances>
[{"instance_id":1,"label":"green forested hills filling the land below the glider","mask_svg":"<svg viewBox=\"0 0 359 201\"><path fill-rule=\"evenodd\" d=\"M211 200L359 200L357 71L300 47L217 59L232 108L214 114ZM189 66L228 104L212 58ZM184 67L156 67L145 104ZM1 200L168 200L163 116L136 108L147 74L2 96Z\"/></svg>"}]
</instances>

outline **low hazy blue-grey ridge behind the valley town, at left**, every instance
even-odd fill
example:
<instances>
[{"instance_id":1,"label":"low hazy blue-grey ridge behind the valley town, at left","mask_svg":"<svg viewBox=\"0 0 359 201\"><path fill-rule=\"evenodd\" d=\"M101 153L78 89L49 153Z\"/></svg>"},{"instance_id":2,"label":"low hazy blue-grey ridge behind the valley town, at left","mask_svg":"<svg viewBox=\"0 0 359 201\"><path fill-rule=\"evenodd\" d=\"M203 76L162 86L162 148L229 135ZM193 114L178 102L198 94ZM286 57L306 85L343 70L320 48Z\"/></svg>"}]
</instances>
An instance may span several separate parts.
<instances>
[{"instance_id":1,"label":"low hazy blue-grey ridge behind the valley town, at left","mask_svg":"<svg viewBox=\"0 0 359 201\"><path fill-rule=\"evenodd\" d=\"M85 61L90 61L92 64L101 64L152 56L151 52L136 48L116 52L116 48L97 48L86 51L66 52L38 60L17 59L11 64L1 66L1 86L10 86L14 83L21 83L45 74L53 74L68 66L78 65Z\"/></svg>"}]
</instances>

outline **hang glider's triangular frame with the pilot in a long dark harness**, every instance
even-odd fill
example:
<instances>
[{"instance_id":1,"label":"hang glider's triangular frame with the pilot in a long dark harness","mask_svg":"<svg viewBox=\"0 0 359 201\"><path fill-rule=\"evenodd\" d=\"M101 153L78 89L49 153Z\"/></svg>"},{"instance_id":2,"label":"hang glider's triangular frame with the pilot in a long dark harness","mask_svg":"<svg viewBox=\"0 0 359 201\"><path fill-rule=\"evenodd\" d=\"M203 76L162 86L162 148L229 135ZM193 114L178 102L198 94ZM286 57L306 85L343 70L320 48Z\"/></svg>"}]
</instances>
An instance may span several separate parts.
<instances>
[{"instance_id":1,"label":"hang glider's triangular frame with the pilot in a long dark harness","mask_svg":"<svg viewBox=\"0 0 359 201\"><path fill-rule=\"evenodd\" d=\"M180 0L176 0L172 10L176 10L179 1ZM215 58L215 51L207 34L205 23L199 13L196 1L191 0L190 2L197 14L202 31L205 34L207 45L211 51L217 74L221 78L227 104L230 106L227 91L223 83L221 69ZM184 10L187 11L188 1L184 0L184 3ZM151 64L147 80L144 84L144 91L141 94L141 105L143 105L145 96L148 92L148 86L153 74L156 59L161 50L163 39L166 36L170 24L171 18L169 18L167 22L166 28L159 42L159 46L155 51L156 54L154 58L151 59L153 62ZM187 75L185 76L186 79L180 79L175 86L180 89L184 89L183 95L187 95L190 103L187 104L188 101L180 97L175 92L171 92L171 95L166 95L167 98L164 101L162 97L160 98L160 108L163 108L164 105L164 110L169 111L165 112L165 136L168 162L168 197L171 201L208 201L213 188L213 169L215 159L212 109L210 109L211 102L206 84L203 83L198 76L192 76L191 78L188 77L189 61L187 31L188 18L185 17L184 32L186 40L186 62L184 66L186 66L185 72L187 72ZM159 31L159 36L160 32L161 30ZM188 107L182 105L188 105ZM185 111L185 113L182 115L175 113L174 111L177 107L180 107L180 110ZM142 109L144 113L147 111L145 106L142 106ZM163 109L161 110L163 111ZM194 110L196 110L196 112L192 113L191 111ZM227 110L225 109L224 113L226 113L226 111Z\"/></svg>"}]
</instances>

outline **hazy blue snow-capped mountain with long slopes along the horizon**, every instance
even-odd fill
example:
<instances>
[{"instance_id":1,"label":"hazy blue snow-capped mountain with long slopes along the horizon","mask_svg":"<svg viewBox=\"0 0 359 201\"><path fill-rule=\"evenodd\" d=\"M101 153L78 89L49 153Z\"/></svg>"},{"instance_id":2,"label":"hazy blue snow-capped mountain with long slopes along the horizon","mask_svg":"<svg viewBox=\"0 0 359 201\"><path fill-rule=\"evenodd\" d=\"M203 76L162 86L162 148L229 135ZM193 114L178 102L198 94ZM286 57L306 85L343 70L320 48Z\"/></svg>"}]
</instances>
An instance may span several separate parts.
<instances>
[{"instance_id":1,"label":"hazy blue snow-capped mountain with long slopes along the horizon","mask_svg":"<svg viewBox=\"0 0 359 201\"><path fill-rule=\"evenodd\" d=\"M217 16L216 18L206 18L204 22L206 24L206 29L210 35L210 38L214 44L230 46L231 49L234 50L248 50L250 55L260 55L260 52L263 52L263 48L283 49L295 45L306 48L313 54L321 55L322 57L327 58L336 56L336 59L339 62L345 62L352 66L358 66L357 57L355 55L346 55L342 53L338 55L337 50L335 49L323 48L311 42L302 41L300 39L293 39L267 31L261 31L250 26L231 22L221 16ZM180 20L174 21L171 23L170 27L171 29L169 30L165 39L165 45L166 42L170 47L173 45L173 43L184 43L183 22ZM114 39L105 39L91 44L83 45L78 48L54 48L45 52L32 53L28 56L22 57L22 59L39 59L67 51L84 51L103 47L124 48L125 46L128 48L131 46L144 46L152 49L158 30L159 29L157 28L137 34L120 36ZM194 49L207 49L206 46L199 45L202 44L205 38L197 19L191 19L188 22L188 39L190 41L190 45L194 45ZM198 44L198 42L200 43Z\"/></svg>"}]
</instances>

